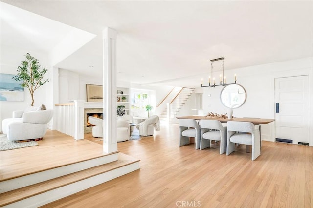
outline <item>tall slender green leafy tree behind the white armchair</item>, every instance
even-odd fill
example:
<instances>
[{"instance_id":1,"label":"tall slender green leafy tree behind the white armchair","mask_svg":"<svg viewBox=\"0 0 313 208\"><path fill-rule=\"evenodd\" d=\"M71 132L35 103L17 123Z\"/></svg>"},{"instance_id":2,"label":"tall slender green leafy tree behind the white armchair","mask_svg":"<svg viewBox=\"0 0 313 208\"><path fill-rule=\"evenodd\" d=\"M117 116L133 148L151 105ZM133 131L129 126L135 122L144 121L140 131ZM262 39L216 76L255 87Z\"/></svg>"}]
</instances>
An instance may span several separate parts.
<instances>
[{"instance_id":1,"label":"tall slender green leafy tree behind the white armchair","mask_svg":"<svg viewBox=\"0 0 313 208\"><path fill-rule=\"evenodd\" d=\"M19 66L17 71L18 74L15 75L12 79L18 82L21 82L21 87L26 87L31 95L31 106L34 106L34 92L40 86L49 82L49 79L44 80L44 75L48 71L45 68L40 70L40 65L38 59L31 56L29 53L26 55L26 60L22 61L22 66Z\"/></svg>"}]
</instances>

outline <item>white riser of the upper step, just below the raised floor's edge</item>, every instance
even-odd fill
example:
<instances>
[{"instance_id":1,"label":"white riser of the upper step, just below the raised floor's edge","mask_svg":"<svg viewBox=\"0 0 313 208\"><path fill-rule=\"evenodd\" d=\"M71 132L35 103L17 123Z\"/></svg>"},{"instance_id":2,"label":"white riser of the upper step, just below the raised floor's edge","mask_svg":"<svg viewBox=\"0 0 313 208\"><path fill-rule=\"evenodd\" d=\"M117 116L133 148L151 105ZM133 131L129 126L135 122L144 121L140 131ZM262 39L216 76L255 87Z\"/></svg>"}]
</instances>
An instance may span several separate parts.
<instances>
[{"instance_id":1,"label":"white riser of the upper step, just below the raised floor's edge","mask_svg":"<svg viewBox=\"0 0 313 208\"><path fill-rule=\"evenodd\" d=\"M118 154L110 154L105 155L103 157L91 159L88 161L83 161L79 163L74 163L67 166L61 166L49 170L45 170L42 172L21 176L18 178L13 178L10 180L2 181L0 183L1 193L11 191L21 187L27 187L33 184L37 184L43 181L47 181L53 178L58 178L60 176L64 176L70 173L78 172L84 169L88 169L90 167L100 166L107 163L111 163L113 161L117 161Z\"/></svg>"}]
</instances>

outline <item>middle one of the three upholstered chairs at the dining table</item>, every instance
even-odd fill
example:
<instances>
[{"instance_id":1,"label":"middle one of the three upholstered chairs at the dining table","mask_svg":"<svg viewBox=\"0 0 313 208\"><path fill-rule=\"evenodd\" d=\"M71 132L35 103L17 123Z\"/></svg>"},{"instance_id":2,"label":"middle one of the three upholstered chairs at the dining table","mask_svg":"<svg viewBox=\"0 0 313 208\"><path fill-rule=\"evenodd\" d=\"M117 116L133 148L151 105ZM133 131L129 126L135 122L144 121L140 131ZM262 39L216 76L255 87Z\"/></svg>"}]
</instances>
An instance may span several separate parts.
<instances>
[{"instance_id":1,"label":"middle one of the three upholstered chairs at the dining table","mask_svg":"<svg viewBox=\"0 0 313 208\"><path fill-rule=\"evenodd\" d=\"M217 120L200 120L200 150L210 147L211 140L220 141L220 154L226 152L227 127Z\"/></svg>"}]
</instances>

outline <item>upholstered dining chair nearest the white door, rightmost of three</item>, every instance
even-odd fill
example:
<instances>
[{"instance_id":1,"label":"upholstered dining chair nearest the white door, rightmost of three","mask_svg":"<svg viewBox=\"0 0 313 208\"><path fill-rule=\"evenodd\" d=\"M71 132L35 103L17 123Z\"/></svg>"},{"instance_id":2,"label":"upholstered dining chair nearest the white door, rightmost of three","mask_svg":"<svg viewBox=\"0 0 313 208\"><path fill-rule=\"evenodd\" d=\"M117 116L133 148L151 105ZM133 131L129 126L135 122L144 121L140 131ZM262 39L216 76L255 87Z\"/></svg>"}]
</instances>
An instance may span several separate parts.
<instances>
[{"instance_id":1,"label":"upholstered dining chair nearest the white door, rightmost of three","mask_svg":"<svg viewBox=\"0 0 313 208\"><path fill-rule=\"evenodd\" d=\"M251 122L227 122L226 155L235 151L235 143L252 145L252 160L255 160L261 155L260 131Z\"/></svg>"}]
</instances>

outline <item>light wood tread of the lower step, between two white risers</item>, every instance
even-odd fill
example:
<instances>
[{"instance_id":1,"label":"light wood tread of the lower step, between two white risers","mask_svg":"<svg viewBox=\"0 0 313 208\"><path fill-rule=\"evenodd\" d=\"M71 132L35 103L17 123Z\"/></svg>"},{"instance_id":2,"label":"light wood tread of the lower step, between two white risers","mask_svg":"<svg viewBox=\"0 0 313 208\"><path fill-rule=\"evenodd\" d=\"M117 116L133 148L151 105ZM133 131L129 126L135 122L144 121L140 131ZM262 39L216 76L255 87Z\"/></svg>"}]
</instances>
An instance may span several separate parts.
<instances>
[{"instance_id":1,"label":"light wood tread of the lower step, between two white risers","mask_svg":"<svg viewBox=\"0 0 313 208\"><path fill-rule=\"evenodd\" d=\"M85 170L81 170L75 173L64 175L58 178L54 178L48 181L44 181L38 184L30 185L27 187L18 188L12 191L8 191L0 194L1 202L0 207L12 204L14 202L35 196L37 194L44 193L46 191L63 187L114 169L119 167L127 166L139 162L139 159L118 153L118 160L107 163L100 166L90 167Z\"/></svg>"}]
</instances>

